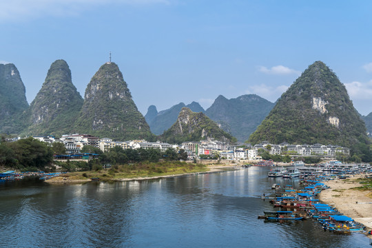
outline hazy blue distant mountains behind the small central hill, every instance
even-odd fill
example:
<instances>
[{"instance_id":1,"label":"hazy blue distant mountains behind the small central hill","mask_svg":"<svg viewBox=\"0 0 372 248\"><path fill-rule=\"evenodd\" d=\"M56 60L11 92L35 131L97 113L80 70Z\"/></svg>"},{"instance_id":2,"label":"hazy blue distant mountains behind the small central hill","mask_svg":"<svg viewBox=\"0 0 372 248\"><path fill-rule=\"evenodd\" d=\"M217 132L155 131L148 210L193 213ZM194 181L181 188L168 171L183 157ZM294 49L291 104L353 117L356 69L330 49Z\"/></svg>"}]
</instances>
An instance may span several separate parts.
<instances>
[{"instance_id":1,"label":"hazy blue distant mountains behind the small central hill","mask_svg":"<svg viewBox=\"0 0 372 248\"><path fill-rule=\"evenodd\" d=\"M189 105L178 103L161 112L157 112L156 107L151 105L145 118L152 132L160 135L176 122L180 110L188 107L192 112L205 112L205 115L215 121L225 132L229 132L238 141L244 142L274 105L256 94L247 94L236 99L226 99L225 96L220 95L205 111L196 102Z\"/></svg>"}]
</instances>

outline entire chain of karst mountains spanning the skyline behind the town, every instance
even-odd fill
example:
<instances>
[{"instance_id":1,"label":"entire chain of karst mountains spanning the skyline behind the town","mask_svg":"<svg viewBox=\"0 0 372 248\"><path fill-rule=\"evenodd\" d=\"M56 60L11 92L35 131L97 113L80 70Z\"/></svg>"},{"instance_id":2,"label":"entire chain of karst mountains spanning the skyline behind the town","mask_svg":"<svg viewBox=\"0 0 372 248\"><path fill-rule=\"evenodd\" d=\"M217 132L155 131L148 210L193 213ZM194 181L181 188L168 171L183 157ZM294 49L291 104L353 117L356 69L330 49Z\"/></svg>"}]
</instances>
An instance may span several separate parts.
<instances>
[{"instance_id":1,"label":"entire chain of karst mountains spanning the skyline behind the town","mask_svg":"<svg viewBox=\"0 0 372 248\"><path fill-rule=\"evenodd\" d=\"M72 84L68 64L54 61L30 106L15 65L0 64L0 132L5 134L79 132L148 141L205 137L234 141L235 136L238 141L249 137L251 143L331 143L366 152L366 127L372 133L372 113L358 114L344 85L321 61L310 65L276 103L254 94L236 99L220 95L207 110L196 102L160 112L152 105L145 117L138 112L115 63L99 68L83 99Z\"/></svg>"}]
</instances>

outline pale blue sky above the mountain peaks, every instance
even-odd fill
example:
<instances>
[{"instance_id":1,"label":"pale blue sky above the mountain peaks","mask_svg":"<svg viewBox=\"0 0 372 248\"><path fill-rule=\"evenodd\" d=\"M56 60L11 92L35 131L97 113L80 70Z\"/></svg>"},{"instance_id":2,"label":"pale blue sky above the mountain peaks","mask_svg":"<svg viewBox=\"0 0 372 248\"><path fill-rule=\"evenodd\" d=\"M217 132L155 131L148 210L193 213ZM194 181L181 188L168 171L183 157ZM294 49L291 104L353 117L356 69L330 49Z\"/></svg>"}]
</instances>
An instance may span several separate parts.
<instances>
[{"instance_id":1,"label":"pale blue sky above the mountain peaks","mask_svg":"<svg viewBox=\"0 0 372 248\"><path fill-rule=\"evenodd\" d=\"M0 63L14 63L31 103L64 59L82 96L115 62L143 115L183 102L207 109L257 94L271 102L314 61L372 112L372 1L0 1Z\"/></svg>"}]
</instances>

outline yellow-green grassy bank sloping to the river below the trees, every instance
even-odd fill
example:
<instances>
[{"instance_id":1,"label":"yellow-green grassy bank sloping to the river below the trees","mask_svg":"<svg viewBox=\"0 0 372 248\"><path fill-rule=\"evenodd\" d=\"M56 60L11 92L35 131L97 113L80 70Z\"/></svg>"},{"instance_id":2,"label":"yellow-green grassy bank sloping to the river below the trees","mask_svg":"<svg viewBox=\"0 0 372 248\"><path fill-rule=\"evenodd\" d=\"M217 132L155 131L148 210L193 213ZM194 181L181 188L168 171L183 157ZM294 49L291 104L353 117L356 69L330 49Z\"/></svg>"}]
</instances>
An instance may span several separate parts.
<instances>
[{"instance_id":1,"label":"yellow-green grassy bank sloping to the river below the trees","mask_svg":"<svg viewBox=\"0 0 372 248\"><path fill-rule=\"evenodd\" d=\"M61 177L68 178L69 180L85 180L87 178L100 178L100 180L118 180L123 178L145 178L187 174L194 172L207 172L207 170L207 166L194 163L147 162L130 165L118 165L110 169L98 169L87 172L72 172L63 176L56 177L54 178L54 180L59 180L61 179Z\"/></svg>"}]
</instances>

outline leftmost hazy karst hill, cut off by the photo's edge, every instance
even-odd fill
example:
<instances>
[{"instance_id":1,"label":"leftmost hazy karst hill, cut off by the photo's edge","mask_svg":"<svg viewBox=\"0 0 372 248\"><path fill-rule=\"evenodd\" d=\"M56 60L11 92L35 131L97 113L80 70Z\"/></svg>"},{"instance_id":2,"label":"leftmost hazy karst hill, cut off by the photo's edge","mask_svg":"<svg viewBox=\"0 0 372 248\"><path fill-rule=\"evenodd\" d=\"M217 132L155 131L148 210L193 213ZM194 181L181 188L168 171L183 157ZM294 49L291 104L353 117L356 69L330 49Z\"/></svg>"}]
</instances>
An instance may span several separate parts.
<instances>
[{"instance_id":1,"label":"leftmost hazy karst hill, cut off by the photo's edge","mask_svg":"<svg viewBox=\"0 0 372 248\"><path fill-rule=\"evenodd\" d=\"M0 64L0 133L18 132L17 120L27 108L25 85L16 66Z\"/></svg>"}]
</instances>

